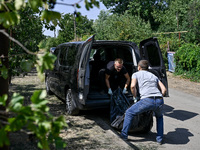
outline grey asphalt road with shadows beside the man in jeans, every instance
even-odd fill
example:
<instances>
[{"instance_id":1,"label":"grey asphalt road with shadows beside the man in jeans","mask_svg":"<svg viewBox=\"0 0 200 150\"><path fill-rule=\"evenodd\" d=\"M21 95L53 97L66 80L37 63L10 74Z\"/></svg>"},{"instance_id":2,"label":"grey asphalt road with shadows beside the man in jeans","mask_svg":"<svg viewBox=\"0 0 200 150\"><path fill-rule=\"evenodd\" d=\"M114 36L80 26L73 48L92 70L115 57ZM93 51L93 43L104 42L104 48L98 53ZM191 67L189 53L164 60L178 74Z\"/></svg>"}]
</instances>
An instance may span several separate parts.
<instances>
[{"instance_id":1,"label":"grey asphalt road with shadows beside the man in jeans","mask_svg":"<svg viewBox=\"0 0 200 150\"><path fill-rule=\"evenodd\" d=\"M163 145L158 145L155 141L155 117L153 128L150 133L130 135L127 144L138 148L142 147L142 149L200 149L200 98L175 89L169 89L169 92L170 97L164 99Z\"/></svg>"}]
</instances>

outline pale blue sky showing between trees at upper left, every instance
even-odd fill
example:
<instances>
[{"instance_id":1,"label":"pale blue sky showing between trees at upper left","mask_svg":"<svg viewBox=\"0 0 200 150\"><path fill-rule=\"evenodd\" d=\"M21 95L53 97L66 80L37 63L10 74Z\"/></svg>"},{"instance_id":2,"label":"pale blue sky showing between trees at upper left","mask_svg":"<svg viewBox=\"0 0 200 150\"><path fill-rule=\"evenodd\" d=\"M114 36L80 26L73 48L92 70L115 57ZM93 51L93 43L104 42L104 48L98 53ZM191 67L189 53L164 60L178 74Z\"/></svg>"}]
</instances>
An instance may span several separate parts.
<instances>
[{"instance_id":1,"label":"pale blue sky showing between trees at upper left","mask_svg":"<svg viewBox=\"0 0 200 150\"><path fill-rule=\"evenodd\" d=\"M74 3L79 2L79 1L80 0L57 0L57 2L66 3L66 4L74 4ZM87 16L88 19L93 19L93 20L98 18L98 15L99 15L101 10L107 10L106 7L101 2L99 4L99 8L93 7L89 11L85 8L84 0L82 0L79 3L79 5L81 6L81 8L80 9L77 8L76 10L79 11L82 14L82 16ZM58 11L58 12L64 13L64 14L74 13L74 7L56 4L53 11ZM50 31L50 30L47 30L45 28L43 28L43 30L44 30L44 35L51 36L51 37L54 36L54 31ZM58 30L59 30L59 28L57 27L56 28L56 36L57 36Z\"/></svg>"}]
</instances>

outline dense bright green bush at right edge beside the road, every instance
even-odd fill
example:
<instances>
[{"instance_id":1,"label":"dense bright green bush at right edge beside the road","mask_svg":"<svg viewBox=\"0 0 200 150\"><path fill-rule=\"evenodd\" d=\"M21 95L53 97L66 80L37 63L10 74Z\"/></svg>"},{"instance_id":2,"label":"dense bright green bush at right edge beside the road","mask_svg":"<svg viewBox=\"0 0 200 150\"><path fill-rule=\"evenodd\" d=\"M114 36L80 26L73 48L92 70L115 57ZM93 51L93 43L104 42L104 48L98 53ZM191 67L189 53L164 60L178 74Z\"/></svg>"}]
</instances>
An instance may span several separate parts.
<instances>
[{"instance_id":1,"label":"dense bright green bush at right edge beside the road","mask_svg":"<svg viewBox=\"0 0 200 150\"><path fill-rule=\"evenodd\" d=\"M182 74L192 81L200 81L200 46L183 44L176 52L176 74Z\"/></svg>"}]
</instances>

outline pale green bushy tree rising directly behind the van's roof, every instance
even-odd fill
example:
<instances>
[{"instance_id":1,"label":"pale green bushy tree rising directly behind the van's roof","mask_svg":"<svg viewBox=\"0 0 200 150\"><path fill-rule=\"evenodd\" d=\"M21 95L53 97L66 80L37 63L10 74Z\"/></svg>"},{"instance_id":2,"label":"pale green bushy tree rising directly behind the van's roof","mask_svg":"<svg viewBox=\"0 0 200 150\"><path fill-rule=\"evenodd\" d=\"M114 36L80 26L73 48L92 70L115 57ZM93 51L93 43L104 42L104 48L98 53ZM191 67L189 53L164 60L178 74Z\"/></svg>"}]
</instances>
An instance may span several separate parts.
<instances>
[{"instance_id":1,"label":"pale green bushy tree rising directly behind the van's roof","mask_svg":"<svg viewBox=\"0 0 200 150\"><path fill-rule=\"evenodd\" d=\"M124 40L139 44L145 38L151 37L151 27L138 16L128 13L124 15L106 15L102 12L94 23L94 30L99 40Z\"/></svg>"}]
</instances>

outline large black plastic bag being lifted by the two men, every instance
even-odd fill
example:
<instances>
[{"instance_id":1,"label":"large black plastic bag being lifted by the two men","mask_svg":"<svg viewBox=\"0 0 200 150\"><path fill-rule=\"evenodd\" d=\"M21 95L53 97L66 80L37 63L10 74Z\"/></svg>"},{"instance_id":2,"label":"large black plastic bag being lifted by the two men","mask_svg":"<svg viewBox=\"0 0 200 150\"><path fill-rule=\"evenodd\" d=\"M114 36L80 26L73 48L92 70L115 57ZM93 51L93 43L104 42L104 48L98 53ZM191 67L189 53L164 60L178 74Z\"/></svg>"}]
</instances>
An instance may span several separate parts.
<instances>
[{"instance_id":1,"label":"large black plastic bag being lifted by the two men","mask_svg":"<svg viewBox=\"0 0 200 150\"><path fill-rule=\"evenodd\" d=\"M123 128L125 112L131 107L131 104L120 88L114 91L111 96L110 106L111 126L117 130L121 130ZM151 130L152 126L153 112L147 111L134 117L129 132L147 133Z\"/></svg>"}]
</instances>

